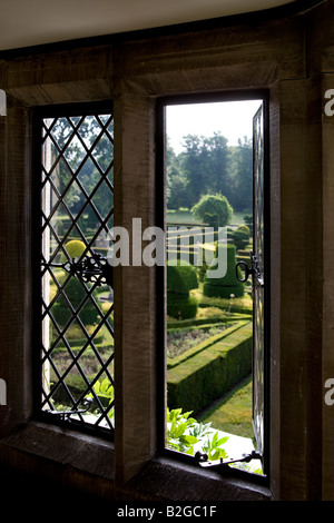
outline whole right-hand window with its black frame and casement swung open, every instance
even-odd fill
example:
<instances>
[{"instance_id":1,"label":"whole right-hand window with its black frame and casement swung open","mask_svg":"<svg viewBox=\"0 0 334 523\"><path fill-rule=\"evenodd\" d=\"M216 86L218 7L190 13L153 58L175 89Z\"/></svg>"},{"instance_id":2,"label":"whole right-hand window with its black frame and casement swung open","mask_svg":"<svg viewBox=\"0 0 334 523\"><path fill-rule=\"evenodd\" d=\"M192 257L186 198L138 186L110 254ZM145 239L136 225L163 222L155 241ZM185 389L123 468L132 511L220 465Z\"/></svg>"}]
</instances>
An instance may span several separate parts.
<instances>
[{"instance_id":1,"label":"whole right-hand window with its black frame and casement swung open","mask_svg":"<svg viewBox=\"0 0 334 523\"><path fill-rule=\"evenodd\" d=\"M248 139L242 141L240 127L240 140L229 146L219 127L204 138L190 126L183 150L174 150L178 108L209 118L210 106L224 115L227 102L229 110L247 107ZM229 100L168 98L159 101L157 116L158 170L165 174L159 189L165 211L158 214L166 231L164 448L202 467L228 466L263 477L268 472L266 99L258 92ZM179 118L187 119L181 111ZM226 221L220 196L236 207ZM248 403L234 407L238 389ZM248 412L245 432L238 421L229 423L237 417L234 408Z\"/></svg>"}]
</instances>

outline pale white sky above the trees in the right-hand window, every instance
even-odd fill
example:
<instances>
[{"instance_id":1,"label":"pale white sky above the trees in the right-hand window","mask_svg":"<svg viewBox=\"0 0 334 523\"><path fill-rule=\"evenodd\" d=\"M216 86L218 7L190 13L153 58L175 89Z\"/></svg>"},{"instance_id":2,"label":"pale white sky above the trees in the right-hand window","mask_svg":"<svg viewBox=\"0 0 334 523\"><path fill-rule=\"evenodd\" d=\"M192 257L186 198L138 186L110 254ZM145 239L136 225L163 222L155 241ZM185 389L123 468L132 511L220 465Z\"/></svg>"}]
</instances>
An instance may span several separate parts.
<instances>
[{"instance_id":1,"label":"pale white sky above the trees in the right-hand window","mask_svg":"<svg viewBox=\"0 0 334 523\"><path fill-rule=\"evenodd\" d=\"M259 105L259 100L247 100L168 106L166 131L169 144L179 154L184 136L210 137L220 131L228 145L235 146L238 138L252 138L253 116Z\"/></svg>"}]
</instances>

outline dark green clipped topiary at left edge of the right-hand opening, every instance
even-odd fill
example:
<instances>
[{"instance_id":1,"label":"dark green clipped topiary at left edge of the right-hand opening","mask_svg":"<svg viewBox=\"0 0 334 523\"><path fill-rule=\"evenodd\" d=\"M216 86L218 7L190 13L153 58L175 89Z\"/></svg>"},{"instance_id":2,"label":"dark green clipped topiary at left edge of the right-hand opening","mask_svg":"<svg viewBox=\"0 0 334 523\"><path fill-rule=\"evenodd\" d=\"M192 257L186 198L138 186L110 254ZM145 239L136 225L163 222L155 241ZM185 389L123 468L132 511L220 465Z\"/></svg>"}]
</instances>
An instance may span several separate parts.
<instances>
[{"instance_id":1,"label":"dark green clipped topiary at left edge of the right-hand opening","mask_svg":"<svg viewBox=\"0 0 334 523\"><path fill-rule=\"evenodd\" d=\"M193 265L178 260L167 263L167 315L177 319L194 318L198 303L189 290L198 287L197 274Z\"/></svg>"}]
</instances>

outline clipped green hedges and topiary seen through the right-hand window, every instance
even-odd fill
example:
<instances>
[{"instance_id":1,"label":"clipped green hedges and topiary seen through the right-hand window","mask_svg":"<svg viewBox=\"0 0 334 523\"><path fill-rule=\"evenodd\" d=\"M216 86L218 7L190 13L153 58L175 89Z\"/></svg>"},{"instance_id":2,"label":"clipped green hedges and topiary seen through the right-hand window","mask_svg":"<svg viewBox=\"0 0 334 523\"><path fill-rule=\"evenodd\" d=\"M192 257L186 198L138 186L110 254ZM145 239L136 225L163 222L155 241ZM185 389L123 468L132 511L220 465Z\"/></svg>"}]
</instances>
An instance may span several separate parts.
<instances>
[{"instance_id":1,"label":"clipped green hedges and topiary seen through the right-hand window","mask_svg":"<svg viewBox=\"0 0 334 523\"><path fill-rule=\"evenodd\" d=\"M197 228L204 233L204 226ZM167 358L167 403L169 408L181 407L196 415L250 374L253 325L252 306L238 308L238 313L230 307L232 300L243 298L249 289L235 274L236 263L250 257L249 228L229 228L224 244L218 244L217 233L210 243L194 241L193 231L194 224L178 224L177 230L168 235L167 329L186 333L220 325L222 332ZM215 263L218 248L226 249L227 270L222 278L209 278L207 270ZM206 306L213 305L222 309L222 316L199 320L198 310L205 316Z\"/></svg>"}]
</instances>

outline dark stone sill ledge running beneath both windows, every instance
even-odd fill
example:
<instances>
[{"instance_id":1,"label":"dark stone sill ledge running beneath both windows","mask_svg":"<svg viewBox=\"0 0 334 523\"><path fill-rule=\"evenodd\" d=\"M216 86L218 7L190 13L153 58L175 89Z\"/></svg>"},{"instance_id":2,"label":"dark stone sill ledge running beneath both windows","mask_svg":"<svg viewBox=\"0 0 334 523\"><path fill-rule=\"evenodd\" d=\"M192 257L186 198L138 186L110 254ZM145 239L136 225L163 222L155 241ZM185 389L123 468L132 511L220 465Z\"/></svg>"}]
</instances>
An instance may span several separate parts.
<instances>
[{"instance_id":1,"label":"dark stone sill ledge running beneath both windows","mask_svg":"<svg viewBox=\"0 0 334 523\"><path fill-rule=\"evenodd\" d=\"M36 499L41 492L67 496L75 492L107 503L271 500L268 489L253 483L250 474L249 481L247 473L227 471L222 475L168 455L149 461L126 484L116 483L112 443L38 422L0 440L0 470L1 486L18 485L22 493Z\"/></svg>"}]
</instances>

